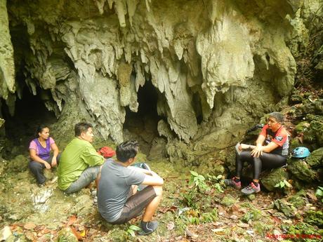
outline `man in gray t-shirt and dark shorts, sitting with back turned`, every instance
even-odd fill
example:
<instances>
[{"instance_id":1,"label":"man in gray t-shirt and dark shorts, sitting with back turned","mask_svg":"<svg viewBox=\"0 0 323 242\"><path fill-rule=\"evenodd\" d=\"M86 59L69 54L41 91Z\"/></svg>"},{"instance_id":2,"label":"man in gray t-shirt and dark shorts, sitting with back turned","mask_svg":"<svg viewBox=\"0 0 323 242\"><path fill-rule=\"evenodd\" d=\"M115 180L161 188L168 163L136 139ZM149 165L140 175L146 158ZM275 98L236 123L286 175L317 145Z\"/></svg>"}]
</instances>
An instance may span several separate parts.
<instances>
[{"instance_id":1,"label":"man in gray t-shirt and dark shorts, sitting with back turned","mask_svg":"<svg viewBox=\"0 0 323 242\"><path fill-rule=\"evenodd\" d=\"M141 227L150 234L158 227L152 215L162 199L164 180L151 170L131 166L138 152L137 141L117 147L117 160L108 159L102 167L98 185L98 210L111 224L123 224L145 209ZM147 185L137 191L138 185Z\"/></svg>"}]
</instances>

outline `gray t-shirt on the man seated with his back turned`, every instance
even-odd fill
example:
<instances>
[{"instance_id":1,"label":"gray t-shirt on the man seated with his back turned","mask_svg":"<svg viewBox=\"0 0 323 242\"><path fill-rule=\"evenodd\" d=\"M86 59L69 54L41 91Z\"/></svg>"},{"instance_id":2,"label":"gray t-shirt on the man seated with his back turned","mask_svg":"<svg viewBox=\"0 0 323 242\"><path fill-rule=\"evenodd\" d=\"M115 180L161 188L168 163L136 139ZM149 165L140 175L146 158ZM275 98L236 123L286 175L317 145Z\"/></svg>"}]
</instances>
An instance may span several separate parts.
<instances>
[{"instance_id":1,"label":"gray t-shirt on the man seated with his back turned","mask_svg":"<svg viewBox=\"0 0 323 242\"><path fill-rule=\"evenodd\" d=\"M139 185L143 180L144 173L107 159L98 187L98 210L107 222L114 222L120 217L131 185Z\"/></svg>"}]
</instances>

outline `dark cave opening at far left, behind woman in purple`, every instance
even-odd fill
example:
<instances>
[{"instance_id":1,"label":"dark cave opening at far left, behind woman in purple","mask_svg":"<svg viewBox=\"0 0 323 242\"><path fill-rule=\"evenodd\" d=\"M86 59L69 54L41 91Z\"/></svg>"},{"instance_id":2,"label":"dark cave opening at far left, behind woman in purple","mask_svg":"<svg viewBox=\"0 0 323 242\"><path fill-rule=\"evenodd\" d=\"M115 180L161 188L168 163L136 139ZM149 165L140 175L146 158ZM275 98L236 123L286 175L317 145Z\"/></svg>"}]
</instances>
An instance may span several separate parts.
<instances>
[{"instance_id":1,"label":"dark cave opening at far left, behind woman in purple","mask_svg":"<svg viewBox=\"0 0 323 242\"><path fill-rule=\"evenodd\" d=\"M46 109L40 97L40 89L37 88L37 95L32 95L27 86L22 90L22 98L17 98L15 101L13 116L4 100L1 100L1 114L5 120L5 137L8 140L4 156L9 158L27 151L29 142L34 138L39 125L51 126L58 120L53 112ZM13 147L17 149L16 152L11 150Z\"/></svg>"}]
</instances>

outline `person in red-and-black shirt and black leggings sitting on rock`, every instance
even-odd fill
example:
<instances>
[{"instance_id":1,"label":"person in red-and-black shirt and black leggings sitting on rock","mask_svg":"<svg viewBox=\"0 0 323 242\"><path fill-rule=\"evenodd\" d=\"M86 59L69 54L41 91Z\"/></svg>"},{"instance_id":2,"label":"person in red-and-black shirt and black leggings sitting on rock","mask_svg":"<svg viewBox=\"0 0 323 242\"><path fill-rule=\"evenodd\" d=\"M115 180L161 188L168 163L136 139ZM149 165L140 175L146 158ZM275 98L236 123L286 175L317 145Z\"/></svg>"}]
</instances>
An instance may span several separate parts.
<instances>
[{"instance_id":1,"label":"person in red-and-black shirt and black leggings sitting on rock","mask_svg":"<svg viewBox=\"0 0 323 242\"><path fill-rule=\"evenodd\" d=\"M240 144L239 150L251 149L251 151L242 151L236 154L236 174L232 179L225 179L227 185L241 188L241 171L244 161L253 166L253 182L248 187L242 189L243 194L253 194L261 191L259 184L259 175L261 170L277 168L284 166L287 161L289 148L289 134L282 122L284 116L279 112L269 114L268 123L263 127L256 140L256 145ZM263 145L263 143L265 143Z\"/></svg>"}]
</instances>

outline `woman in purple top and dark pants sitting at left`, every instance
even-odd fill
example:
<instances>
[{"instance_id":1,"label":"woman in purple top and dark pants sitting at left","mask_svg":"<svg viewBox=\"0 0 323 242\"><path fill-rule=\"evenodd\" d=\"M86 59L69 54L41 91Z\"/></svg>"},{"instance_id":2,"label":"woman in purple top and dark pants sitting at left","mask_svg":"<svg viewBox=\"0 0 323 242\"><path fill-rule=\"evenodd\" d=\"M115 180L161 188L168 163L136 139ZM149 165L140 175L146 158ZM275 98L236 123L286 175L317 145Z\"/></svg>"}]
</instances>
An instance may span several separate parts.
<instances>
[{"instance_id":1,"label":"woman in purple top and dark pants sitting at left","mask_svg":"<svg viewBox=\"0 0 323 242\"><path fill-rule=\"evenodd\" d=\"M44 168L51 169L58 165L58 147L52 137L49 137L49 128L41 125L37 128L35 139L29 144L29 169L36 177L39 186L45 184ZM53 154L51 155L51 151Z\"/></svg>"}]
</instances>

